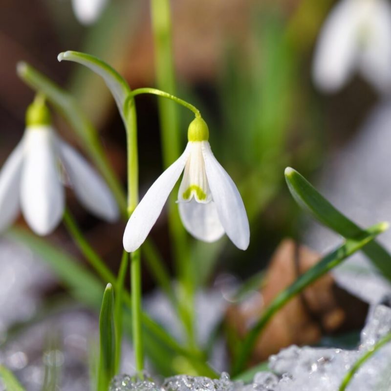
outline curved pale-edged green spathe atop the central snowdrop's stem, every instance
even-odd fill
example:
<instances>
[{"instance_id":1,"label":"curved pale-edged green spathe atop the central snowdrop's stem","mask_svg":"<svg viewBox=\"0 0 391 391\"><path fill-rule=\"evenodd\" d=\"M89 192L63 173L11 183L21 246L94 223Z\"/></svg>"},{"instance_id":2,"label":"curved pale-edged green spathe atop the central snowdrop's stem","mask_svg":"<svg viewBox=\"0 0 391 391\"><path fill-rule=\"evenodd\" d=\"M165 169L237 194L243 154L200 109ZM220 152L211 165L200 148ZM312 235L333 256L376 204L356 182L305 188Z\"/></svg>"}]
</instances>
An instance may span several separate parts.
<instances>
[{"instance_id":1,"label":"curved pale-edged green spathe atop the central snowdrop's stem","mask_svg":"<svg viewBox=\"0 0 391 391\"><path fill-rule=\"evenodd\" d=\"M115 99L115 103L121 113L122 119L126 124L126 101L131 93L130 87L126 80L111 66L86 53L68 50L58 55L58 61L73 61L87 66L93 72L103 78L107 87Z\"/></svg>"}]
</instances>

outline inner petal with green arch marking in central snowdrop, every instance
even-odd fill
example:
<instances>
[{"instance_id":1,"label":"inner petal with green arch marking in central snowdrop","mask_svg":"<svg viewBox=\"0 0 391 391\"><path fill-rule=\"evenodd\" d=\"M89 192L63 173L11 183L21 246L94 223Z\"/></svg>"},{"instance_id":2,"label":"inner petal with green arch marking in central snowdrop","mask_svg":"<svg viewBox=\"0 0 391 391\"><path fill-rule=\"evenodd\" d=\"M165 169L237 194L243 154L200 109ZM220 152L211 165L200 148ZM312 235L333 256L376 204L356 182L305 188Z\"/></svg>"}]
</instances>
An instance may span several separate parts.
<instances>
[{"instance_id":1,"label":"inner petal with green arch marking in central snowdrop","mask_svg":"<svg viewBox=\"0 0 391 391\"><path fill-rule=\"evenodd\" d=\"M179 187L179 202L189 202L193 198L200 203L212 201L212 194L205 172L204 157L202 155L203 142L206 141L192 142L192 151L186 162L182 182Z\"/></svg>"}]
</instances>

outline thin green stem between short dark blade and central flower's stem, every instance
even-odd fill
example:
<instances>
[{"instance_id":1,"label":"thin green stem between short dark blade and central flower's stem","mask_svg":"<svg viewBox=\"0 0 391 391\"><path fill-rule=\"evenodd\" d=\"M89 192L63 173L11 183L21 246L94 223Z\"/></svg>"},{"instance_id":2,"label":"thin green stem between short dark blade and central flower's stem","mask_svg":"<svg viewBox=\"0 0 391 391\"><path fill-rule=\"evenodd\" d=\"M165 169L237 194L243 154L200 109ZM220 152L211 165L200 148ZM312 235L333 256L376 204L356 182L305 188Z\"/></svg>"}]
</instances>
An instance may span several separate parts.
<instances>
[{"instance_id":1,"label":"thin green stem between short dark blade and central flower's stem","mask_svg":"<svg viewBox=\"0 0 391 391\"><path fill-rule=\"evenodd\" d=\"M118 373L121 363L121 348L122 348L122 326L123 326L123 308L124 308L124 283L126 277L126 271L129 264L129 254L124 250L122 253L121 264L119 267L117 284L116 284L116 296L114 302L114 323L116 331L115 339L115 373Z\"/></svg>"}]
</instances>

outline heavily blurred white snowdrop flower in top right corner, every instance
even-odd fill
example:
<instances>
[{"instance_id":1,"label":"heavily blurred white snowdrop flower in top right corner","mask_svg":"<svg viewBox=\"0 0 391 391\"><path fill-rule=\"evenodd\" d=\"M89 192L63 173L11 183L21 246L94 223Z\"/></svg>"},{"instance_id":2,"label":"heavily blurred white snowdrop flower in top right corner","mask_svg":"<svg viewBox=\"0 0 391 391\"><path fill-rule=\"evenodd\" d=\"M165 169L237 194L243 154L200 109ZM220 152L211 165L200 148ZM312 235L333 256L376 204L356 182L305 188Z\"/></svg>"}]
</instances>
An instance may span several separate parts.
<instances>
[{"instance_id":1,"label":"heavily blurred white snowdrop flower in top right corner","mask_svg":"<svg viewBox=\"0 0 391 391\"><path fill-rule=\"evenodd\" d=\"M355 70L380 92L391 89L391 5L388 0L342 0L321 30L313 64L316 85L332 92Z\"/></svg>"}]
</instances>

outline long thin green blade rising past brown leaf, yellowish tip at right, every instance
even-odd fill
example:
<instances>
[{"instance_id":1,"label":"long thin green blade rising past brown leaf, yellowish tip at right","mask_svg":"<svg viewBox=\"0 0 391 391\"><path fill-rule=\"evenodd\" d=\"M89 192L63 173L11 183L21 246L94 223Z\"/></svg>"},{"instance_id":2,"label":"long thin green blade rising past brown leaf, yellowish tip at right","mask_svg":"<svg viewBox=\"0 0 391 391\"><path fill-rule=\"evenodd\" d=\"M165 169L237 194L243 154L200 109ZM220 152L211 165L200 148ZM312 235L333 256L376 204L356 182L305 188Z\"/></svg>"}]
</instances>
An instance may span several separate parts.
<instances>
[{"instance_id":1,"label":"long thin green blade rising past brown leaf, yellowish tip at right","mask_svg":"<svg viewBox=\"0 0 391 391\"><path fill-rule=\"evenodd\" d=\"M282 308L297 294L302 292L312 282L315 282L326 272L338 266L350 255L363 248L366 244L373 240L373 238L388 229L388 226L388 223L382 222L368 228L366 231L362 231L356 239L347 239L345 244L327 254L321 261L312 266L295 282L278 294L267 308L265 308L258 322L247 333L243 344L239 348L239 353L233 365L232 374L236 375L244 368L252 349L254 348L256 340L269 320L280 308Z\"/></svg>"}]
</instances>

